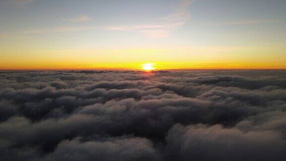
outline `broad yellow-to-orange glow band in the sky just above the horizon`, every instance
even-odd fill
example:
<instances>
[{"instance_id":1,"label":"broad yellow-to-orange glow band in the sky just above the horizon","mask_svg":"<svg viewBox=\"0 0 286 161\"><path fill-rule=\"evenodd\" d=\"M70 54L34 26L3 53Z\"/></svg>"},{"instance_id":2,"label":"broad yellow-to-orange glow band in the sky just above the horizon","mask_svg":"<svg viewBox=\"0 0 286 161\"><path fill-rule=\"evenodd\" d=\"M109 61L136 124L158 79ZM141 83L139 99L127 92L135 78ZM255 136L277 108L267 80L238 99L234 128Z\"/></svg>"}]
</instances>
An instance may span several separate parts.
<instances>
[{"instance_id":1,"label":"broad yellow-to-orange glow band in the sky just above the horizon","mask_svg":"<svg viewBox=\"0 0 286 161\"><path fill-rule=\"evenodd\" d=\"M0 70L282 70L286 69L285 50L225 46L56 51L16 48L1 53ZM151 63L151 67L143 67Z\"/></svg>"}]
</instances>

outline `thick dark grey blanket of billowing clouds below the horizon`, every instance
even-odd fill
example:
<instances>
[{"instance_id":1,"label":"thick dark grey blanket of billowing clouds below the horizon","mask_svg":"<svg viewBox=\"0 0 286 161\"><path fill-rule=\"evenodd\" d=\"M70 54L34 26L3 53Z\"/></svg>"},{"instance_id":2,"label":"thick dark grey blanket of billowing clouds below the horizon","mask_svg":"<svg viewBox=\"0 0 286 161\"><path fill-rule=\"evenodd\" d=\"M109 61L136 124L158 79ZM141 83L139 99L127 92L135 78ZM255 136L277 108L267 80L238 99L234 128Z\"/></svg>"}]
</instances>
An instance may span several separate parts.
<instances>
[{"instance_id":1,"label":"thick dark grey blanket of billowing clouds below the horizon","mask_svg":"<svg viewBox=\"0 0 286 161\"><path fill-rule=\"evenodd\" d=\"M2 71L1 161L285 161L285 71Z\"/></svg>"}]
</instances>

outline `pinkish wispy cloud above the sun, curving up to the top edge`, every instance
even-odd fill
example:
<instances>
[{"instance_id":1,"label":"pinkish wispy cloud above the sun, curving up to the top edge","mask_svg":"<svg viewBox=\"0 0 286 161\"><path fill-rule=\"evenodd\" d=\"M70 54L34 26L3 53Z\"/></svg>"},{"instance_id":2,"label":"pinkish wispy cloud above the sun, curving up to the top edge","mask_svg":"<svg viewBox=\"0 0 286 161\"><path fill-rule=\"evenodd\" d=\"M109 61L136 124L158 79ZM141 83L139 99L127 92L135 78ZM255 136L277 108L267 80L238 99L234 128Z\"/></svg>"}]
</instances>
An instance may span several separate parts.
<instances>
[{"instance_id":1,"label":"pinkish wispy cloud above the sun, curving up to the top edge","mask_svg":"<svg viewBox=\"0 0 286 161\"><path fill-rule=\"evenodd\" d=\"M158 22L156 24L108 26L106 29L140 32L153 38L168 37L191 18L189 7L194 1L181 1L171 14L157 19Z\"/></svg>"}]
</instances>

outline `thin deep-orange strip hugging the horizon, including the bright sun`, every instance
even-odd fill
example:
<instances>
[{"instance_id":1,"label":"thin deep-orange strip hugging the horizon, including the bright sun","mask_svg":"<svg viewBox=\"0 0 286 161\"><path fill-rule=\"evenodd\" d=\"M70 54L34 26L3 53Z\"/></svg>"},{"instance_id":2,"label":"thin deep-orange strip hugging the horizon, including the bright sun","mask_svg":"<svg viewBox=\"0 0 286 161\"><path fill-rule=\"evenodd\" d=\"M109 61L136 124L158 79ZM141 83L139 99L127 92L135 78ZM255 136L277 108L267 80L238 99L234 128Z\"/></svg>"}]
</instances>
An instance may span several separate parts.
<instances>
[{"instance_id":1,"label":"thin deep-orange strip hugging the horizon, including the bright sun","mask_svg":"<svg viewBox=\"0 0 286 161\"><path fill-rule=\"evenodd\" d=\"M156 62L151 63L102 63L89 64L83 62L39 62L25 64L0 65L0 70L286 70L281 63L213 63L213 62Z\"/></svg>"}]
</instances>

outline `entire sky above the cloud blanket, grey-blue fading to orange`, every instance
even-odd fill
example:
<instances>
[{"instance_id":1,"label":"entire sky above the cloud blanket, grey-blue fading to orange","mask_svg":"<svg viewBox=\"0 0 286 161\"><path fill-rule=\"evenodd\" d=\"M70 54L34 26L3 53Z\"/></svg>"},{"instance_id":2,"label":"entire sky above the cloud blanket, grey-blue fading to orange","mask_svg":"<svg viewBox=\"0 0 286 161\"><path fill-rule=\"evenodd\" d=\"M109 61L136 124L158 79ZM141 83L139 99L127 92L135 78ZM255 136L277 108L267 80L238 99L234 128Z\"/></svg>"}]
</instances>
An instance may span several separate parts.
<instances>
[{"instance_id":1,"label":"entire sky above the cloud blanket, grey-blue fading to orange","mask_svg":"<svg viewBox=\"0 0 286 161\"><path fill-rule=\"evenodd\" d=\"M286 69L286 0L0 0L0 70Z\"/></svg>"}]
</instances>

